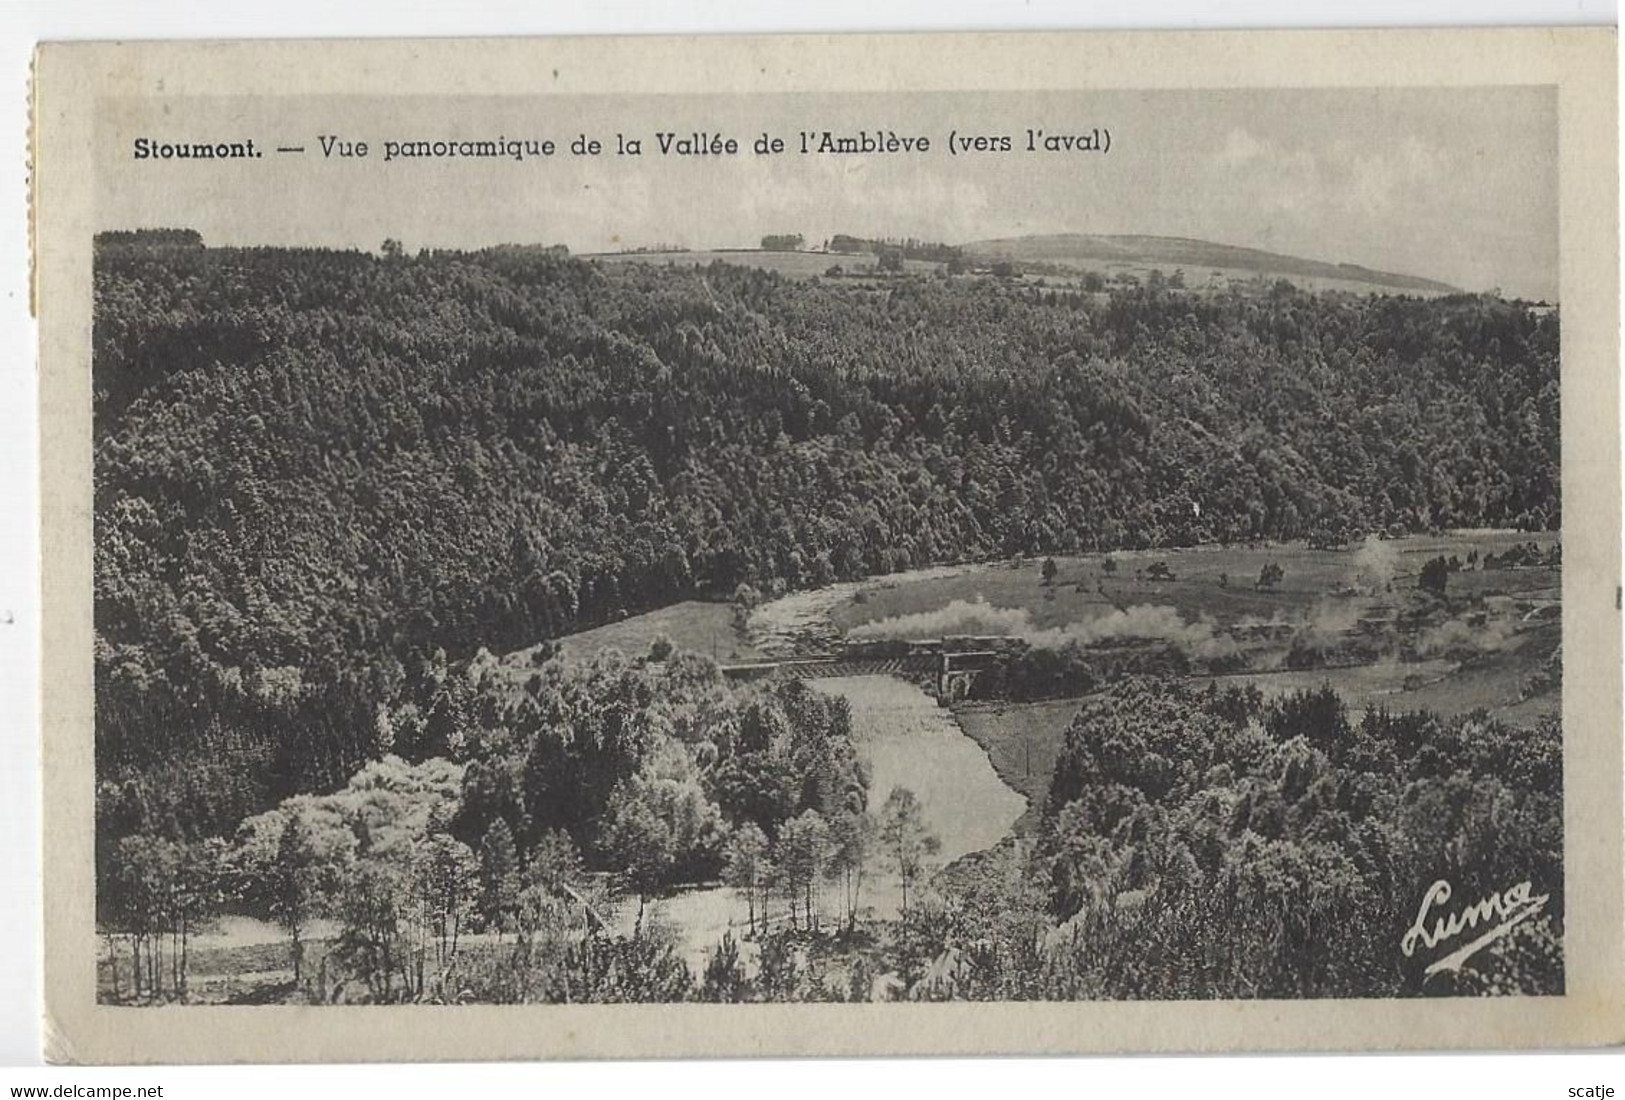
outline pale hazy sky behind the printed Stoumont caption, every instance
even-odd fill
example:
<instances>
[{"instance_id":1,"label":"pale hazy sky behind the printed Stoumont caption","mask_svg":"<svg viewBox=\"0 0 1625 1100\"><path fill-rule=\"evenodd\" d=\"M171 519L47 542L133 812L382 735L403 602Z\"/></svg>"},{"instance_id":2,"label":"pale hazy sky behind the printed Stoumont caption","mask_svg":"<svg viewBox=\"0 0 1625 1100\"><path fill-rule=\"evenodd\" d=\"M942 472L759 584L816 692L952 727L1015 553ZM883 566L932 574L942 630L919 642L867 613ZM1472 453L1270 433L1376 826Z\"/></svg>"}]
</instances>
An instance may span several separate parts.
<instances>
[{"instance_id":1,"label":"pale hazy sky behind the printed Stoumont caption","mask_svg":"<svg viewBox=\"0 0 1625 1100\"><path fill-rule=\"evenodd\" d=\"M1108 153L1027 153L1029 128L1110 133ZM739 141L661 156L655 135ZM801 156L800 133L894 132L928 153ZM616 135L644 141L618 156ZM788 151L759 156L760 135ZM949 153L949 135L1009 153ZM318 138L367 141L323 156ZM574 156L578 135L604 151ZM257 161L135 161L132 141L240 140ZM551 158L393 159L387 141L552 140ZM188 226L211 244L377 249L752 247L847 232L964 244L1045 232L1198 237L1558 296L1550 88L124 101L99 119L98 224Z\"/></svg>"}]
</instances>

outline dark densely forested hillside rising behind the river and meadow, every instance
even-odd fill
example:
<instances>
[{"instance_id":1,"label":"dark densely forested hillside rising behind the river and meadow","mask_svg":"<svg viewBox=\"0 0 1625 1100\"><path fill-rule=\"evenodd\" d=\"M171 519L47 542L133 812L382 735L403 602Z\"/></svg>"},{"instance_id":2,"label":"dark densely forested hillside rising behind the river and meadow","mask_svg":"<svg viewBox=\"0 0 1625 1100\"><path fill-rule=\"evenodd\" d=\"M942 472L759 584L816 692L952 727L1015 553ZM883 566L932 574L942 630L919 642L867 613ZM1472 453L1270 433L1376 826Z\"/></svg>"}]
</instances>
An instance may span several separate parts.
<instances>
[{"instance_id":1,"label":"dark densely forested hillside rising behind the river and meadow","mask_svg":"<svg viewBox=\"0 0 1625 1100\"><path fill-rule=\"evenodd\" d=\"M229 832L455 725L447 658L741 582L1560 520L1557 318L1497 299L390 252L98 247L112 816Z\"/></svg>"}]
</instances>

